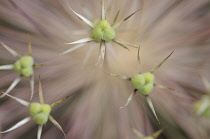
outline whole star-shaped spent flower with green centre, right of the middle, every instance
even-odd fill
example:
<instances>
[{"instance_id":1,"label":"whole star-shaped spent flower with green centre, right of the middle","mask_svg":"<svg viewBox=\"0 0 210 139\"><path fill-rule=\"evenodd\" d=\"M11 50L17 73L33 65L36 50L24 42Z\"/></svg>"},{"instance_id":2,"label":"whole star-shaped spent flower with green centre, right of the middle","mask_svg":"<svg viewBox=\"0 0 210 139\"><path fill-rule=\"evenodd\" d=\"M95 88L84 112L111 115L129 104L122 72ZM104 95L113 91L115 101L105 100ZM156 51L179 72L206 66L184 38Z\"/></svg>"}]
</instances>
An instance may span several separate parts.
<instances>
[{"instance_id":1,"label":"whole star-shaped spent flower with green centre, right of the middle","mask_svg":"<svg viewBox=\"0 0 210 139\"><path fill-rule=\"evenodd\" d=\"M172 88L169 88L169 87L166 87L166 86L163 86L163 85L155 84L154 72L162 66L162 64L172 55L173 52L171 52L162 62L160 62L151 71L141 73L140 55L139 55L140 47L139 47L138 57L137 57L137 59L138 59L138 74L136 74L132 77L128 77L128 76L125 76L125 75L109 74L109 75L112 75L112 76L115 76L115 77L118 77L118 78L122 78L122 79L131 81L132 86L135 88L134 92L129 96L125 106L127 106L129 104L129 102L132 100L132 98L136 94L136 92L139 91L142 95L144 95L146 97L147 103L149 104L149 107L151 108L153 114L155 115L157 121L159 122L159 119L158 119L158 117L155 113L155 109L154 109L154 106L152 104L151 98L149 97L149 94L152 92L154 87L169 89L169 90L173 90L173 91L178 92L175 89L172 89ZM123 107L121 107L121 108L123 108Z\"/></svg>"}]
</instances>

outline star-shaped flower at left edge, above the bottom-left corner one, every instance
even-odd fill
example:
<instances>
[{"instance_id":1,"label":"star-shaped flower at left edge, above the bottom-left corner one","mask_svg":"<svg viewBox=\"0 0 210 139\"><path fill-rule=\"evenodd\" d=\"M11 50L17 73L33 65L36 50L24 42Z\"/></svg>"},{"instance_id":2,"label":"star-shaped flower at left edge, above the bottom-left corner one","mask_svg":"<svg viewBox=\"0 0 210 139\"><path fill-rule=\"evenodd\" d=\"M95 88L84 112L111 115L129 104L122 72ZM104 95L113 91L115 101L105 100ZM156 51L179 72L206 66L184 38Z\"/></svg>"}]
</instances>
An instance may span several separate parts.
<instances>
[{"instance_id":1,"label":"star-shaped flower at left edge, above the bottom-left corner one","mask_svg":"<svg viewBox=\"0 0 210 139\"><path fill-rule=\"evenodd\" d=\"M9 88L6 90L6 92L0 96L0 98L4 97L6 94L8 94L15 86L21 81L21 78L23 77L29 77L30 78L30 86L31 86L31 99L33 98L34 94L34 67L38 67L41 65L34 64L34 58L32 57L32 51L31 51L31 41L28 37L28 55L21 56L18 54L15 50L4 44L3 42L0 42L0 44L15 58L18 58L18 60L14 64L10 65L2 65L0 66L0 70L14 70L20 76L18 76L12 84L9 86Z\"/></svg>"}]
</instances>

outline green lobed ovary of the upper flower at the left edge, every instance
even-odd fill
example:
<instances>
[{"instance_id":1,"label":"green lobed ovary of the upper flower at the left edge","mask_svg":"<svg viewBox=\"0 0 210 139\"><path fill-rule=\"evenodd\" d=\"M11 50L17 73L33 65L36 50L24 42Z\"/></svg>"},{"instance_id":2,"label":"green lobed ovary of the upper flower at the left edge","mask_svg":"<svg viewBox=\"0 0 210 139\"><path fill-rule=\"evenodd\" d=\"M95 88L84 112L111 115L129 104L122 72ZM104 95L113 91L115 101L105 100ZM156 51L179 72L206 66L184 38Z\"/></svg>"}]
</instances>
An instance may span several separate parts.
<instances>
[{"instance_id":1,"label":"green lobed ovary of the upper flower at the left edge","mask_svg":"<svg viewBox=\"0 0 210 139\"><path fill-rule=\"evenodd\" d=\"M14 64L14 70L24 77L30 77L33 74L34 60L31 56L22 56Z\"/></svg>"}]
</instances>

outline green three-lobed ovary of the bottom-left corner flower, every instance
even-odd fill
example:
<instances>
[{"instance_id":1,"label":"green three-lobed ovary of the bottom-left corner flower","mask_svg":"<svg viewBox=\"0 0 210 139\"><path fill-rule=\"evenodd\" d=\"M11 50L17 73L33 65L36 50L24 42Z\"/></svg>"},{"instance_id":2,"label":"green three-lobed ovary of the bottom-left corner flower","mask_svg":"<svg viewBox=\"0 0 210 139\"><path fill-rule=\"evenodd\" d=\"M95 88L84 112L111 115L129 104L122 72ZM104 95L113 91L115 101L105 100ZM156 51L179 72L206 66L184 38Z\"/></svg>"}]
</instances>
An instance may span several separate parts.
<instances>
[{"instance_id":1,"label":"green three-lobed ovary of the bottom-left corner flower","mask_svg":"<svg viewBox=\"0 0 210 139\"><path fill-rule=\"evenodd\" d=\"M51 107L48 104L31 103L29 111L34 122L43 125L48 121Z\"/></svg>"}]
</instances>

